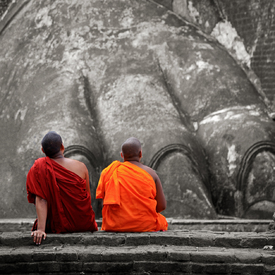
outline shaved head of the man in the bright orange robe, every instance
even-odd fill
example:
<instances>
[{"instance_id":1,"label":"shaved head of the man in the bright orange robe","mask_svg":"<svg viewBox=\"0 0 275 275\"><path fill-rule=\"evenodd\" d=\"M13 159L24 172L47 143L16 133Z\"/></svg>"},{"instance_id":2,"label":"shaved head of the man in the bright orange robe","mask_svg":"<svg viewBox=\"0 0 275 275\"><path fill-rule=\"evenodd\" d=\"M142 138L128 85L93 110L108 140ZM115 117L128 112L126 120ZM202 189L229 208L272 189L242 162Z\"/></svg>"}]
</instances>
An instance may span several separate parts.
<instances>
[{"instance_id":1,"label":"shaved head of the man in the bright orange robe","mask_svg":"<svg viewBox=\"0 0 275 275\"><path fill-rule=\"evenodd\" d=\"M139 160L141 157L141 143L137 138L128 138L121 146L124 160Z\"/></svg>"}]
</instances>

